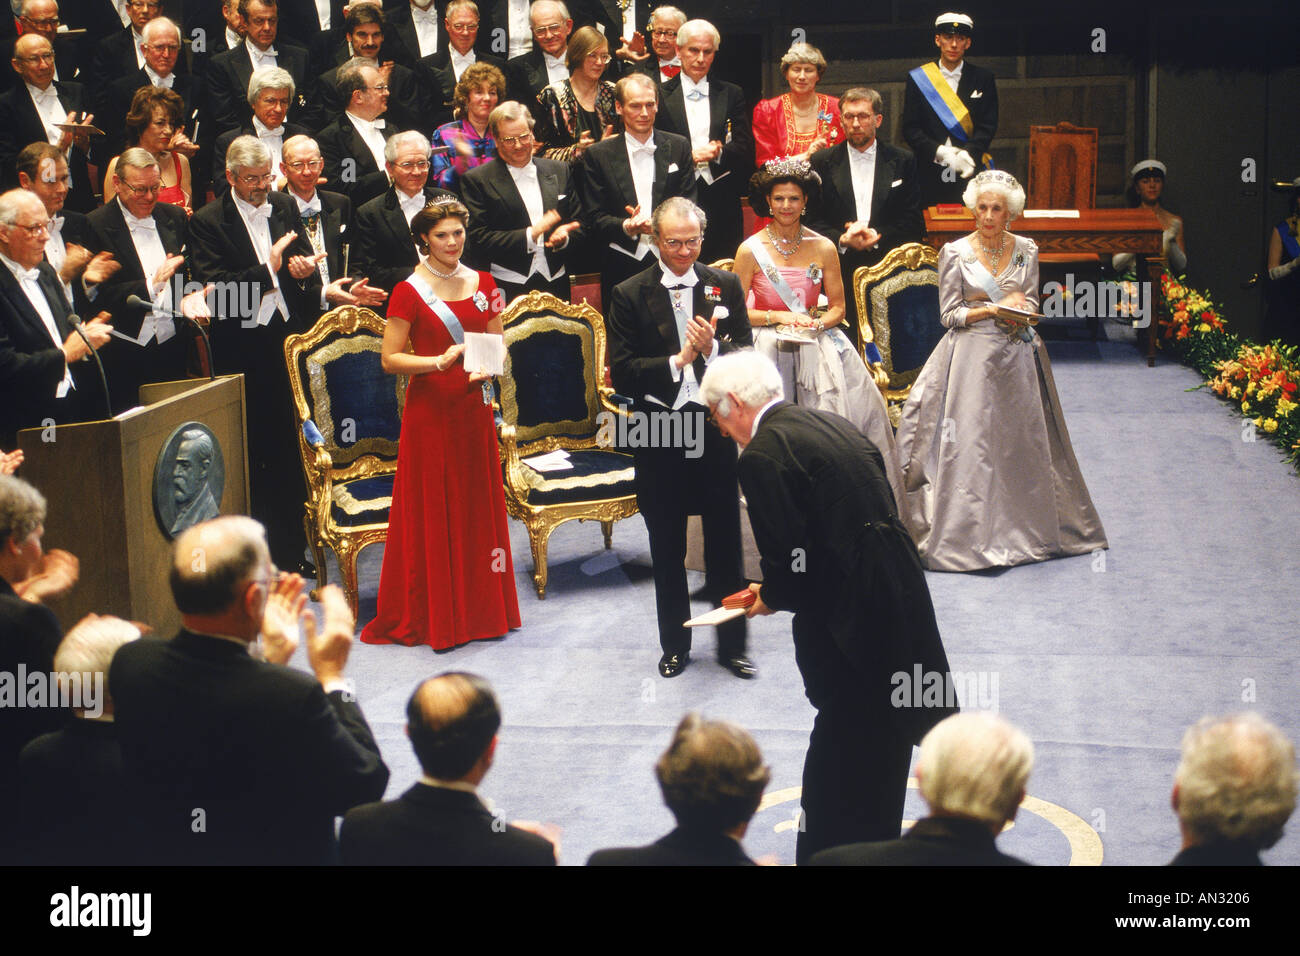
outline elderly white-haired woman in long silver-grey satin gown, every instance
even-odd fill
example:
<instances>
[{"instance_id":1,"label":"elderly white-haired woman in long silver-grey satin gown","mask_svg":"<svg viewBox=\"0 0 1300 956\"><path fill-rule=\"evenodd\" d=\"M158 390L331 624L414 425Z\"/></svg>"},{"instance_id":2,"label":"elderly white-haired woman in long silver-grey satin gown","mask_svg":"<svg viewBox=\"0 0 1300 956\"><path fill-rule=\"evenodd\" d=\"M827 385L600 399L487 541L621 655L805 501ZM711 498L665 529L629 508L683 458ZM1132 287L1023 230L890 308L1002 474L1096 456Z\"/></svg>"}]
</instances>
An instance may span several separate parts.
<instances>
[{"instance_id":1,"label":"elderly white-haired woman in long silver-grey satin gown","mask_svg":"<svg viewBox=\"0 0 1300 956\"><path fill-rule=\"evenodd\" d=\"M898 427L907 527L932 571L1009 567L1106 548L1070 447L1046 349L994 306L1039 307L1039 251L1006 232L1024 190L988 170L966 187L976 229L939 254L948 334Z\"/></svg>"}]
</instances>

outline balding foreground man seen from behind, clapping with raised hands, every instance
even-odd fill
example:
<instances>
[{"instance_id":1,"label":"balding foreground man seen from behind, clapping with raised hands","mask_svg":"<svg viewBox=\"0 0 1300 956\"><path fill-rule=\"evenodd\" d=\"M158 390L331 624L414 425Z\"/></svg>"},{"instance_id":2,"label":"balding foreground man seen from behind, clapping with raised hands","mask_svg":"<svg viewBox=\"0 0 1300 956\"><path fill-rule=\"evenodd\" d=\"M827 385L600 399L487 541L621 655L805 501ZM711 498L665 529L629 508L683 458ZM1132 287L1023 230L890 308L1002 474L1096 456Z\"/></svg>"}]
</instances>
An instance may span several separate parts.
<instances>
[{"instance_id":1,"label":"balding foreground man seen from behind, clapping with raised hands","mask_svg":"<svg viewBox=\"0 0 1300 956\"><path fill-rule=\"evenodd\" d=\"M177 537L170 584L179 633L126 644L109 669L143 861L330 862L334 817L389 782L343 679L347 598L321 591L317 631L302 579L277 574L261 525L238 515ZM313 675L283 666L299 623Z\"/></svg>"}]
</instances>

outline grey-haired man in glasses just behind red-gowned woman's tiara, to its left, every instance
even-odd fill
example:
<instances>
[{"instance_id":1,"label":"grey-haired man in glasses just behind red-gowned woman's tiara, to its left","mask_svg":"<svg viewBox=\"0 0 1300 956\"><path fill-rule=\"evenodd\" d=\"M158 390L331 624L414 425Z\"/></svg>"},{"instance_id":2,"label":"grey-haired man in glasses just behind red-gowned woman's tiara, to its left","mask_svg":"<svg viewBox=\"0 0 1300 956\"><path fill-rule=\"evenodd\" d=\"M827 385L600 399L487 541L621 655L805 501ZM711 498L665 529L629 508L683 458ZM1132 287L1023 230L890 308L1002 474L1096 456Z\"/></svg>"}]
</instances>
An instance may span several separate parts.
<instances>
[{"instance_id":1,"label":"grey-haired man in glasses just behind red-gowned woman's tiara, to its left","mask_svg":"<svg viewBox=\"0 0 1300 956\"><path fill-rule=\"evenodd\" d=\"M415 130L399 133L384 147L393 185L356 211L356 271L380 289L393 290L420 264L411 220L438 196L455 198L429 181L429 140Z\"/></svg>"}]
</instances>

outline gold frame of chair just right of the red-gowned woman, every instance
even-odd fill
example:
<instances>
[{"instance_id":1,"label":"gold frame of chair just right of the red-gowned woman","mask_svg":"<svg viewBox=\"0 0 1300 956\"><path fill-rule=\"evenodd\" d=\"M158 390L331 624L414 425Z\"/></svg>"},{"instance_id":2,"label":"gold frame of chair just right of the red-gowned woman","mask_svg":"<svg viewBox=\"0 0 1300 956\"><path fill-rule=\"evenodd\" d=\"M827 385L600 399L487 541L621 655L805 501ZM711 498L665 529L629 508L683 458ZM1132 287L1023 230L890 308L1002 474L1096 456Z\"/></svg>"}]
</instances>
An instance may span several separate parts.
<instances>
[{"instance_id":1,"label":"gold frame of chair just right of the red-gowned woman","mask_svg":"<svg viewBox=\"0 0 1300 956\"><path fill-rule=\"evenodd\" d=\"M542 315L537 315L542 313ZM537 332L560 330L566 333L590 329L590 354L584 347L584 363L590 369L592 376L586 380L588 389L588 423L593 432L599 429L597 416L602 411L615 415L625 414L611 401L614 389L604 385L601 378L604 375L604 320L601 313L584 303L571 303L558 299L549 293L532 291L520 295L502 313L502 325L507 343L506 373L500 377L500 406L503 419L514 408L515 382L511 377L510 352L511 342ZM578 326L577 329L575 328ZM584 423L567 421L555 423L581 425ZM542 429L530 429L526 438L521 438L515 425L504 420L498 429L498 440L504 464L506 484L506 511L511 518L516 518L528 528L528 544L533 551L533 585L537 588L538 600L546 598L546 545L551 532L566 522L599 522L604 537L604 548L612 546L614 523L637 514L636 494L620 498L602 498L599 501L568 502L563 505L529 505L529 480L523 458L528 455L545 454L556 449L581 451L598 449L597 436L592 438L571 438L562 434L545 434ZM521 447L523 446L523 447Z\"/></svg>"}]
</instances>

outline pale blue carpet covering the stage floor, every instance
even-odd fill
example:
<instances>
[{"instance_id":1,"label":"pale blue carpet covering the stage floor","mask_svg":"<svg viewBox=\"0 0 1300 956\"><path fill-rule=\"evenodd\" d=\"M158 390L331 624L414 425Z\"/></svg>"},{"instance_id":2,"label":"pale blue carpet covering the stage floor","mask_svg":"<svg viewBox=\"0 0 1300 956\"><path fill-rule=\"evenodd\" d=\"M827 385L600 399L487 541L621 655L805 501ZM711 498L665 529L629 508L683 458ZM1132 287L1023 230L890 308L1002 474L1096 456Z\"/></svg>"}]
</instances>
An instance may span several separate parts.
<instances>
[{"instance_id":1,"label":"pale blue carpet covering the stage floor","mask_svg":"<svg viewBox=\"0 0 1300 956\"><path fill-rule=\"evenodd\" d=\"M1186 392L1199 384L1193 372L1165 359L1147 368L1124 343L1048 347L1110 550L993 574L931 574L931 593L954 671L982 675L984 704L996 702L1036 748L1032 800L1002 848L1045 865L1164 864L1179 845L1169 792L1188 724L1252 708L1300 740L1300 483L1275 446L1243 441L1223 403ZM757 680L714 663L711 633L697 635L684 675L663 680L640 518L615 525L612 551L602 550L598 525L555 532L545 601L517 523L511 544L520 631L442 654L352 649L348 676L393 770L387 796L419 777L403 734L411 689L468 670L491 680L504 710L482 793L508 818L558 825L562 862L671 829L653 766L694 709L754 734L772 783L745 845L792 864L812 710L789 615L751 624ZM363 622L374 611L381 555L372 548L361 557ZM692 574L690 587L699 584ZM302 652L295 665L306 666ZM915 791L906 812L926 812ZM1300 864L1300 836L1288 834L1265 860Z\"/></svg>"}]
</instances>

